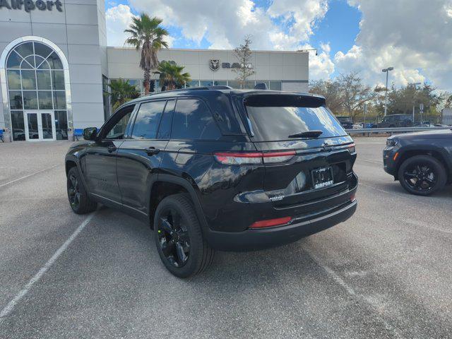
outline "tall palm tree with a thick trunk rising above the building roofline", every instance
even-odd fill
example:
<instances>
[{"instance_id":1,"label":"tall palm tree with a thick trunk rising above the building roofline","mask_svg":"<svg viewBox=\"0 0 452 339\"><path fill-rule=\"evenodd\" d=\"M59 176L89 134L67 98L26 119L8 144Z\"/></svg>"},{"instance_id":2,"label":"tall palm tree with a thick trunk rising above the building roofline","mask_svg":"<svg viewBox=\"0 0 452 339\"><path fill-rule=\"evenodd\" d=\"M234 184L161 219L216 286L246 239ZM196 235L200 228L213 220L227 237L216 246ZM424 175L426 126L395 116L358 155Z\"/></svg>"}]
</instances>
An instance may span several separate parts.
<instances>
[{"instance_id":1,"label":"tall palm tree with a thick trunk rising above the building roofline","mask_svg":"<svg viewBox=\"0 0 452 339\"><path fill-rule=\"evenodd\" d=\"M144 71L145 94L149 94L150 71L157 68L157 52L162 47L168 48L168 43L163 39L169 33L165 28L160 27L162 19L150 18L148 14L141 13L141 16L132 18L126 33L130 37L126 39L126 44L134 46L137 50L141 49L140 67Z\"/></svg>"}]
</instances>

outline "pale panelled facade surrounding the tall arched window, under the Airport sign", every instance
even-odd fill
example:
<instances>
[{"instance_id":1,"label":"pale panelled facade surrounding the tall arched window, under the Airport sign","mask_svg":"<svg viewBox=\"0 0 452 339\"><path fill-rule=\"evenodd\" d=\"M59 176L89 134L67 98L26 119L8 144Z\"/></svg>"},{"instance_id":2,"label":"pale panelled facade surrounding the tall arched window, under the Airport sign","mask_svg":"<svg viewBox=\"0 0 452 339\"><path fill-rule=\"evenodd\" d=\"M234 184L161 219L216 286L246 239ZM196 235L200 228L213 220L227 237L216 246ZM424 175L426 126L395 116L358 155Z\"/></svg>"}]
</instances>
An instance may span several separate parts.
<instances>
[{"instance_id":1,"label":"pale panelled facade surrounding the tall arched window, under the Airport sign","mask_svg":"<svg viewBox=\"0 0 452 339\"><path fill-rule=\"evenodd\" d=\"M69 134L74 128L100 126L104 121L102 73L108 76L105 1L61 0L61 11L56 6L42 10L37 1L33 2L35 8L28 11L24 5L13 8L11 0L1 2L0 129L11 131L6 59L15 45L27 41L40 41L61 52L61 61L68 66L65 82Z\"/></svg>"}]
</instances>

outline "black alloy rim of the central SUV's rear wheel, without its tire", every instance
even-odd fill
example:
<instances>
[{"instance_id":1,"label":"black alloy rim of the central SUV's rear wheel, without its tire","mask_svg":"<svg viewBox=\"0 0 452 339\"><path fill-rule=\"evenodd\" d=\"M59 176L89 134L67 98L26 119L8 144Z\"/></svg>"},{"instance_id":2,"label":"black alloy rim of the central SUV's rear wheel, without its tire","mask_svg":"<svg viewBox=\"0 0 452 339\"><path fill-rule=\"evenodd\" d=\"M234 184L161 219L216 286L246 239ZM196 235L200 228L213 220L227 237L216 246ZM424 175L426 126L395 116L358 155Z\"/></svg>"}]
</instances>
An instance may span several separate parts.
<instances>
[{"instance_id":1,"label":"black alloy rim of the central SUV's rear wheel, without its tire","mask_svg":"<svg viewBox=\"0 0 452 339\"><path fill-rule=\"evenodd\" d=\"M182 216L172 208L163 210L157 227L160 249L172 266L180 268L190 256L190 237Z\"/></svg>"}]
</instances>

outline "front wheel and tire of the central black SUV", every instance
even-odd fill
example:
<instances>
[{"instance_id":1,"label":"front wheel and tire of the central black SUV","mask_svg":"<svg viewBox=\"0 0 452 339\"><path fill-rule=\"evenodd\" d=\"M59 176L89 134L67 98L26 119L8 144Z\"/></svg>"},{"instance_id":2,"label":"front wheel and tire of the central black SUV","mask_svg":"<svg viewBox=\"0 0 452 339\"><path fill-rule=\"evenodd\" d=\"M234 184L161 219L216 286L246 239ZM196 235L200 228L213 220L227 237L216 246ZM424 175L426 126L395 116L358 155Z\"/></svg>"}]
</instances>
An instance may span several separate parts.
<instances>
[{"instance_id":1,"label":"front wheel and tire of the central black SUV","mask_svg":"<svg viewBox=\"0 0 452 339\"><path fill-rule=\"evenodd\" d=\"M97 208L97 203L90 199L88 191L83 185L81 175L78 172L77 167L72 167L71 169L69 169L66 186L68 191L69 205L75 213L90 213ZM74 188L74 186L76 186L76 188Z\"/></svg>"}]
</instances>

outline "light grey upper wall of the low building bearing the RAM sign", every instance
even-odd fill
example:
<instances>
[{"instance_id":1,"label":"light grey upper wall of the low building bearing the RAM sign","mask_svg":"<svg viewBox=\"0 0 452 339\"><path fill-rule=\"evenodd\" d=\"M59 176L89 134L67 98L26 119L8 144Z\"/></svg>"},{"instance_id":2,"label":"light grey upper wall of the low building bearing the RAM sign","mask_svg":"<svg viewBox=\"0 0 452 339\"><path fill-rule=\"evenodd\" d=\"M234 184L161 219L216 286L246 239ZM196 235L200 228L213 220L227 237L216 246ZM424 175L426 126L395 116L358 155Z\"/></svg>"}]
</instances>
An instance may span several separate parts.
<instances>
[{"instance_id":1,"label":"light grey upper wall of the low building bearing the RAM sign","mask_svg":"<svg viewBox=\"0 0 452 339\"><path fill-rule=\"evenodd\" d=\"M139 53L133 48L107 47L109 78L140 79L143 71L138 67ZM190 73L191 79L201 81L198 85L213 85L219 81L234 84L237 74L224 64L237 62L230 50L213 49L162 49L158 54L160 61L174 61L185 66L184 71ZM219 69L210 69L210 60L219 61ZM309 54L307 52L254 51L251 54L251 65L254 75L249 81L272 82L280 90L307 92L309 78ZM269 84L268 84L269 85ZM236 87L232 85L232 87ZM253 85L254 87L254 85Z\"/></svg>"}]
</instances>

